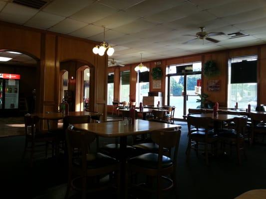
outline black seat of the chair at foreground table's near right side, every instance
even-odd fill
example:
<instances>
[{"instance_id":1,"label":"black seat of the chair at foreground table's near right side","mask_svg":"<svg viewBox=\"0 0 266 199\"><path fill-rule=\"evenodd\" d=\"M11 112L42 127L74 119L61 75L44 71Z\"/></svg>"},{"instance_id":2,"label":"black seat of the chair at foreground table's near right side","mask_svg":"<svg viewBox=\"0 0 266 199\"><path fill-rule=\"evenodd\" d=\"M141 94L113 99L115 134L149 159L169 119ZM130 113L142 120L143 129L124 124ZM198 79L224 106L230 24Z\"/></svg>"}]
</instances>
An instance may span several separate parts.
<instances>
[{"instance_id":1,"label":"black seat of the chair at foreground table's near right side","mask_svg":"<svg viewBox=\"0 0 266 199\"><path fill-rule=\"evenodd\" d=\"M158 154L156 153L146 153L143 155L130 158L128 163L131 165L144 167L148 169L158 169ZM162 158L162 168L167 168L173 165L171 158L163 156Z\"/></svg>"}]
</instances>

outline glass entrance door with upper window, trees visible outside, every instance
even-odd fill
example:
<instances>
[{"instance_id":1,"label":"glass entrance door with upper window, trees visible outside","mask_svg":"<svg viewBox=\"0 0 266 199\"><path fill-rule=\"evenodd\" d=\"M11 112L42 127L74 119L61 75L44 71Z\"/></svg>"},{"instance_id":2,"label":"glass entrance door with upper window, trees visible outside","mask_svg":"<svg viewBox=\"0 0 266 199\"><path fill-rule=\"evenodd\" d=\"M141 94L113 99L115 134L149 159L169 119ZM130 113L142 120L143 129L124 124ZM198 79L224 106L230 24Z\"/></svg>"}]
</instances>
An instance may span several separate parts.
<instances>
[{"instance_id":1,"label":"glass entrance door with upper window, trees visible outside","mask_svg":"<svg viewBox=\"0 0 266 199\"><path fill-rule=\"evenodd\" d=\"M175 106L174 118L183 119L189 108L197 108L201 94L202 63L171 65L166 76L167 105Z\"/></svg>"}]
</instances>

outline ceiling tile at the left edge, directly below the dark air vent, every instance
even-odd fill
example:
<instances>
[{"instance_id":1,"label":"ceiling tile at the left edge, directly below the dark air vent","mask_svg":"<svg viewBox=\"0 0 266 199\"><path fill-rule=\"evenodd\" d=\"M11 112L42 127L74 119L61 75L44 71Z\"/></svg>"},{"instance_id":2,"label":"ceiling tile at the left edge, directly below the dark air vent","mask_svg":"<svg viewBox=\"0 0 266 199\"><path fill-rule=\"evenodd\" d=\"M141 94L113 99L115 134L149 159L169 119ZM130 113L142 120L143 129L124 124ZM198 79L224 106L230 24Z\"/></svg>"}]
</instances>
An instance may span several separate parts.
<instances>
[{"instance_id":1,"label":"ceiling tile at the left edge, directly below the dark air vent","mask_svg":"<svg viewBox=\"0 0 266 199\"><path fill-rule=\"evenodd\" d=\"M0 20L23 24L38 11L39 10L37 9L28 8L22 5L7 3L7 5L0 12Z\"/></svg>"}]
</instances>

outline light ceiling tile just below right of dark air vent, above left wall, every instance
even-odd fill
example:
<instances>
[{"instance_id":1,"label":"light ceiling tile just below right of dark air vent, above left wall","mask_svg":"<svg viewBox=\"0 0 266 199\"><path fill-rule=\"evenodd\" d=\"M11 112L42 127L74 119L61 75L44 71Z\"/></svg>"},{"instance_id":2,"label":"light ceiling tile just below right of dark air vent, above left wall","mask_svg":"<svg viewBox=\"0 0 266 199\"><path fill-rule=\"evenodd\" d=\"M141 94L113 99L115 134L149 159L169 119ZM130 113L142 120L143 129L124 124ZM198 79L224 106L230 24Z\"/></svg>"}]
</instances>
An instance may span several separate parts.
<instances>
[{"instance_id":1,"label":"light ceiling tile just below right of dark air vent, above left wall","mask_svg":"<svg viewBox=\"0 0 266 199\"><path fill-rule=\"evenodd\" d=\"M64 20L65 17L58 16L55 14L50 14L47 12L40 11L35 16L33 16L31 19L29 19L25 25L47 29L56 23L59 23L60 21Z\"/></svg>"}]
</instances>

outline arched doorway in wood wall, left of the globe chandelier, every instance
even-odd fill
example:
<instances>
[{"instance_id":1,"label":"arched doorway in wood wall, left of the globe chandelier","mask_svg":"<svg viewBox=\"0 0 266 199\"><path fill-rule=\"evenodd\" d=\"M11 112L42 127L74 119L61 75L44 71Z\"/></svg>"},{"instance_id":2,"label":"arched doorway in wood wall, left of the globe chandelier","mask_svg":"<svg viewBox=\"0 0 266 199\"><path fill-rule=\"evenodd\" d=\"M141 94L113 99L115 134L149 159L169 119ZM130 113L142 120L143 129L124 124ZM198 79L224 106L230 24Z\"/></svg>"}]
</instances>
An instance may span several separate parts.
<instances>
[{"instance_id":1,"label":"arched doorway in wood wall, left of the globe chandelier","mask_svg":"<svg viewBox=\"0 0 266 199\"><path fill-rule=\"evenodd\" d=\"M67 92L72 101L69 104L70 111L84 111L84 108L94 110L94 67L82 60L67 60L60 62L60 95L62 101L64 73L68 73ZM65 75L66 77L66 75Z\"/></svg>"}]
</instances>

